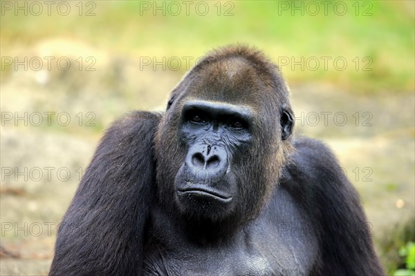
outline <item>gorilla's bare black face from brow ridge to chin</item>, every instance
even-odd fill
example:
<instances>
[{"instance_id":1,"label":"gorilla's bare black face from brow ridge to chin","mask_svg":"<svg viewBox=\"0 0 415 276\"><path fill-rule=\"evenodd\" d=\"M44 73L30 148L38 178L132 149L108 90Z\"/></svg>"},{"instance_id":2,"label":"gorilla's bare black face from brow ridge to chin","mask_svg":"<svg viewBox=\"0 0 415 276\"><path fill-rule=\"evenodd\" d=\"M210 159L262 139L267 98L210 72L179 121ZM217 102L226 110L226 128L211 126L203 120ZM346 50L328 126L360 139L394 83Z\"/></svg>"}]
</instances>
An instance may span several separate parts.
<instances>
[{"instance_id":1,"label":"gorilla's bare black face from brow ridge to chin","mask_svg":"<svg viewBox=\"0 0 415 276\"><path fill-rule=\"evenodd\" d=\"M183 213L216 220L234 211L238 196L235 161L252 143L252 110L212 101L187 101L179 137L187 154L174 186Z\"/></svg>"}]
</instances>

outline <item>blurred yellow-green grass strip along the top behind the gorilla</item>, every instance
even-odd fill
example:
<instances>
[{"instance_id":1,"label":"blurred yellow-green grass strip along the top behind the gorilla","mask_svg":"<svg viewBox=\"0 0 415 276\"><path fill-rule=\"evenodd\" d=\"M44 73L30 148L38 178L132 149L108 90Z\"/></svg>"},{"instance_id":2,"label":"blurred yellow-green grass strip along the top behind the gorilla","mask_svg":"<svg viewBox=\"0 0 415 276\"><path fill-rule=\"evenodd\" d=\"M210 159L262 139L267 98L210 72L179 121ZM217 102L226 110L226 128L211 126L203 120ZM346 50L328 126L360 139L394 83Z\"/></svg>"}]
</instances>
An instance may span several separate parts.
<instances>
[{"instance_id":1,"label":"blurred yellow-green grass strip along the top behind the gorilla","mask_svg":"<svg viewBox=\"0 0 415 276\"><path fill-rule=\"evenodd\" d=\"M221 14L233 7L232 16L218 16L214 6L217 1L205 2L210 8L205 16L195 12L197 2L192 2L189 16L185 15L181 1L177 2L182 3L178 16L168 12L163 16L160 10L154 16L152 10L140 10L139 1L95 1L96 15L91 17L79 16L75 7L78 2L71 3L73 12L66 17L55 10L51 16L46 12L40 16L24 16L19 12L15 16L3 11L1 55L7 55L16 46L30 46L51 37L86 41L109 48L115 54L123 52L133 57L199 57L211 48L239 42L257 46L274 61L279 57L295 61L315 57L320 61L317 70L283 66L289 83L330 82L352 92L368 93L414 90L413 1L340 1L347 6L342 16L333 10L335 1L329 5L327 15L320 4L320 12L315 16L307 12L302 15L300 10L295 10L293 16L291 10L282 9L282 5L292 5L292 1L223 1ZM369 12L367 16L363 16L365 11ZM322 57L331 57L327 70ZM336 70L332 62L336 57L347 61L345 70ZM363 62L365 57L369 59ZM370 70L363 71L362 66L369 61Z\"/></svg>"}]
</instances>

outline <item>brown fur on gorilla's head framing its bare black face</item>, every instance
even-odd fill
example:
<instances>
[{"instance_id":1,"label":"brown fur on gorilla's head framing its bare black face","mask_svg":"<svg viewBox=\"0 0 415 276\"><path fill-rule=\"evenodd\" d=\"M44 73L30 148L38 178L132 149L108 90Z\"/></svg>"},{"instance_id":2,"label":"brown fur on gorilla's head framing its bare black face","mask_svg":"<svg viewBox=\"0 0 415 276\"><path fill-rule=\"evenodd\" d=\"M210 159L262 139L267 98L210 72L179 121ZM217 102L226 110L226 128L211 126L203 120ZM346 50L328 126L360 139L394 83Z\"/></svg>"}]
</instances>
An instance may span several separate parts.
<instances>
[{"instance_id":1,"label":"brown fur on gorilla's head framing its bare black face","mask_svg":"<svg viewBox=\"0 0 415 276\"><path fill-rule=\"evenodd\" d=\"M169 208L178 207L173 200L174 179L188 150L179 134L181 110L190 100L240 106L254 115L252 141L246 150L232 156L230 164L238 182L239 202L229 215L252 219L273 190L293 150L291 139L282 139L282 116L288 112L293 117L282 75L255 48L227 46L210 52L178 83L155 142L159 199L172 199L164 202Z\"/></svg>"}]
</instances>

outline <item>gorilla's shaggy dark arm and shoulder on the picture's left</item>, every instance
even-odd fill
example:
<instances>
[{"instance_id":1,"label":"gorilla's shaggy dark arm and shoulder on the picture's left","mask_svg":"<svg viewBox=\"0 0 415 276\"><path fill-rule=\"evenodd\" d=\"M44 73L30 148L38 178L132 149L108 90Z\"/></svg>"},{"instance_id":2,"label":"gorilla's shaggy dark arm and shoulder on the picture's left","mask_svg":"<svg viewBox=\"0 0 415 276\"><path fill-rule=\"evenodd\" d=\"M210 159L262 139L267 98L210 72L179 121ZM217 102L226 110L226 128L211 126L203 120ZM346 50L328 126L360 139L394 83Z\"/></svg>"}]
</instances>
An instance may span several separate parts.
<instances>
[{"instance_id":1,"label":"gorilla's shaggy dark arm and shoulder on the picture's left","mask_svg":"<svg viewBox=\"0 0 415 276\"><path fill-rule=\"evenodd\" d=\"M158 121L134 112L107 130L59 227L50 275L140 275Z\"/></svg>"}]
</instances>

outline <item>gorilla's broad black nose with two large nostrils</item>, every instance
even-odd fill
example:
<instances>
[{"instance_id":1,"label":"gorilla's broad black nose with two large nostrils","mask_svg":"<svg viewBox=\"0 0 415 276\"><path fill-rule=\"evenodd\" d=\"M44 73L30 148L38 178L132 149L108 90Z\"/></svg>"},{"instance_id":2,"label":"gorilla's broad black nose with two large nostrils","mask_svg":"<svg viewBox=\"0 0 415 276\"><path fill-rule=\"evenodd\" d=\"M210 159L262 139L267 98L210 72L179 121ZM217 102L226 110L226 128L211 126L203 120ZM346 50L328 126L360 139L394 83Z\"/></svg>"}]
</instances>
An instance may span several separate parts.
<instances>
[{"instance_id":1,"label":"gorilla's broad black nose with two large nostrils","mask_svg":"<svg viewBox=\"0 0 415 276\"><path fill-rule=\"evenodd\" d=\"M195 145L190 148L186 158L190 170L207 170L215 172L214 175L225 172L227 164L226 151L220 146Z\"/></svg>"}]
</instances>

